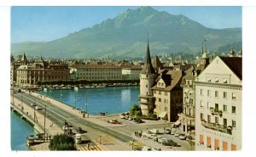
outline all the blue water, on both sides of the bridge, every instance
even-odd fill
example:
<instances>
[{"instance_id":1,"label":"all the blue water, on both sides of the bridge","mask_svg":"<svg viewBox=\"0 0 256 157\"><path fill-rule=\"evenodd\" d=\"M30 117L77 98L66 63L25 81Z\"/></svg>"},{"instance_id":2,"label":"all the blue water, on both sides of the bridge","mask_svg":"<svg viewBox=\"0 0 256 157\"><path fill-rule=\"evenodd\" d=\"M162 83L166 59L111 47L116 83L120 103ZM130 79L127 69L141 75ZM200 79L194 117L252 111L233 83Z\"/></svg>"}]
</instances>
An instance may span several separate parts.
<instances>
[{"instance_id":1,"label":"all the blue water, on both sides of the bridge","mask_svg":"<svg viewBox=\"0 0 256 157\"><path fill-rule=\"evenodd\" d=\"M90 115L98 112L110 114L128 112L131 104L138 104L139 87L106 87L91 89L38 91L65 104L86 110ZM26 136L37 132L18 115L11 113L11 149L27 150Z\"/></svg>"}]
</instances>

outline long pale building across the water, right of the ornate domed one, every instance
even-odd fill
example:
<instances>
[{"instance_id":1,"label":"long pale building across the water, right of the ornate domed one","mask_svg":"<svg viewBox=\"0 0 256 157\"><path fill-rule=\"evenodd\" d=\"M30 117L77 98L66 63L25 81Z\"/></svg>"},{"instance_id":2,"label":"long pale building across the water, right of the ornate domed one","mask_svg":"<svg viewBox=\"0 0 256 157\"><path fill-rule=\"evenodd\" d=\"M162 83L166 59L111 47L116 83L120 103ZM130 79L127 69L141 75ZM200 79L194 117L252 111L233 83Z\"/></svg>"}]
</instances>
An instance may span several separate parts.
<instances>
[{"instance_id":1,"label":"long pale building across the water, right of the ornate domed one","mask_svg":"<svg viewBox=\"0 0 256 157\"><path fill-rule=\"evenodd\" d=\"M122 80L122 68L112 64L74 64L70 73L75 80Z\"/></svg>"}]
</instances>

